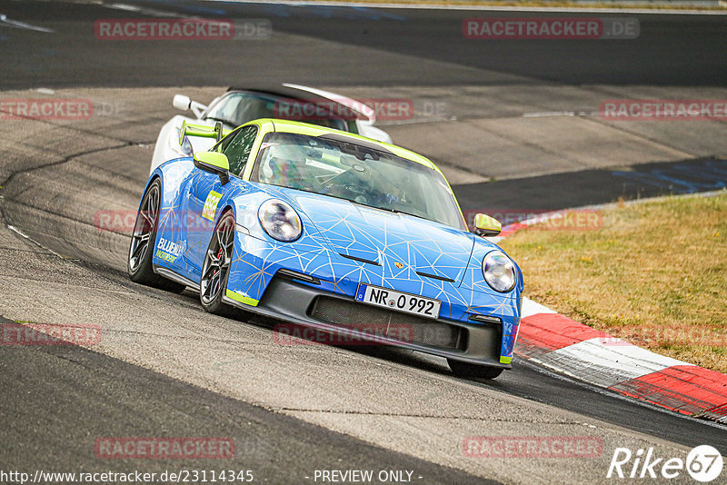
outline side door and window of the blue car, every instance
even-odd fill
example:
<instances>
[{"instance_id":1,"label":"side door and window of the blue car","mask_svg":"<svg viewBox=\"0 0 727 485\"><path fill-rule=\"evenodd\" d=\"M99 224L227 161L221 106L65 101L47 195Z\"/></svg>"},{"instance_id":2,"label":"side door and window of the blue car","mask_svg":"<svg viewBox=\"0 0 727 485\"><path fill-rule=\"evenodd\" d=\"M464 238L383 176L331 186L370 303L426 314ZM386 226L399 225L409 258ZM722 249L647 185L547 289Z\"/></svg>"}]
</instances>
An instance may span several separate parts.
<instances>
[{"instance_id":1,"label":"side door and window of the blue car","mask_svg":"<svg viewBox=\"0 0 727 485\"><path fill-rule=\"evenodd\" d=\"M213 151L224 153L230 163L230 177L240 177L249 162L258 127L254 124L243 126L228 134L214 146ZM204 254L214 232L218 207L224 207L227 200L237 189L235 183L220 181L218 175L194 168L189 193L189 231L187 233L186 257L194 269L197 280L202 272Z\"/></svg>"}]
</instances>

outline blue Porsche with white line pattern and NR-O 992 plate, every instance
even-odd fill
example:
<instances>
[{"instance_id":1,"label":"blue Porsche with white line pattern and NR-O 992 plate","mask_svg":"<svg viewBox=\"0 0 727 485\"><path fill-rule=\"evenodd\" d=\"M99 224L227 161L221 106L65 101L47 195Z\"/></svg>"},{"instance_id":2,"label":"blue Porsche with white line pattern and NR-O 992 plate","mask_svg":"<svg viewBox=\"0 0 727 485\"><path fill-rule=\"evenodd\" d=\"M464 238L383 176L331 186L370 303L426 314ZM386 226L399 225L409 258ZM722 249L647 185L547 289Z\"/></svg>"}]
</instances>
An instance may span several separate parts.
<instances>
[{"instance_id":1,"label":"blue Porsche with white line pattern and NR-O 992 plate","mask_svg":"<svg viewBox=\"0 0 727 485\"><path fill-rule=\"evenodd\" d=\"M327 333L445 357L463 376L511 367L523 275L468 231L423 156L356 134L259 119L209 152L154 169L129 249L134 282L191 287L204 310L234 307Z\"/></svg>"}]
</instances>

